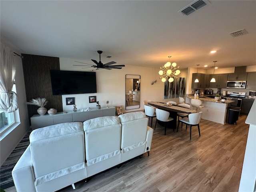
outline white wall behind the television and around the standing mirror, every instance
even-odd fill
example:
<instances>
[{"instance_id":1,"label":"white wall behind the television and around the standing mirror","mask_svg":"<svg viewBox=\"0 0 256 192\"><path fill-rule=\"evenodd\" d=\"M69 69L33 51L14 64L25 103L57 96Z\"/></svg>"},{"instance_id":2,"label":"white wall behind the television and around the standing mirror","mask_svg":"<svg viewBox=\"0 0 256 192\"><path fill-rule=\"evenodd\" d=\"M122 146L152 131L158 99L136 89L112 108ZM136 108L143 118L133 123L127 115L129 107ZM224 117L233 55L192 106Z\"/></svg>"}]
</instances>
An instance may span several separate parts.
<instances>
[{"instance_id":1,"label":"white wall behind the television and around the standing mirror","mask_svg":"<svg viewBox=\"0 0 256 192\"><path fill-rule=\"evenodd\" d=\"M60 70L84 70L82 67L66 68L70 63L74 63L75 60L60 58ZM81 61L83 62L83 61ZM88 63L88 61L84 61ZM76 64L76 63L74 63ZM72 110L72 105L66 105L66 97L75 97L76 107L78 109L84 109L87 107L95 108L96 103L89 103L89 96L96 96L97 101L100 102L102 107L107 106L106 101L109 101L109 106L122 106L125 112L125 75L140 75L140 109L143 110L143 100L152 100L159 102L166 102L164 100L164 83L159 79L158 71L160 68L148 68L140 66L126 65L122 69L112 70L94 70L96 72L97 81L97 93L94 94L71 94L63 95L62 103L63 110ZM181 74L178 77L187 77L187 69L181 70ZM152 81L157 80L153 85ZM169 99L174 100L174 99ZM134 111L134 110L128 110Z\"/></svg>"}]
</instances>

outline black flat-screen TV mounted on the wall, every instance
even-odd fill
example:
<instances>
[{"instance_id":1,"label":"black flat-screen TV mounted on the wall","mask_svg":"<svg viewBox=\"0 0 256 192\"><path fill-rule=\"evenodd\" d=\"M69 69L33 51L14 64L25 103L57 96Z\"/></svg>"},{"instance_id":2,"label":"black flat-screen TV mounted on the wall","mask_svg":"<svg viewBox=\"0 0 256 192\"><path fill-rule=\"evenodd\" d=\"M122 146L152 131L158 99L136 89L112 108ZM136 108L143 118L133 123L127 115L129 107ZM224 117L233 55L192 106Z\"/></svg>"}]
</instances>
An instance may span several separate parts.
<instances>
[{"instance_id":1,"label":"black flat-screen TV mounted on the wall","mask_svg":"<svg viewBox=\"0 0 256 192\"><path fill-rule=\"evenodd\" d=\"M96 93L96 72L50 70L52 94Z\"/></svg>"}]
</instances>

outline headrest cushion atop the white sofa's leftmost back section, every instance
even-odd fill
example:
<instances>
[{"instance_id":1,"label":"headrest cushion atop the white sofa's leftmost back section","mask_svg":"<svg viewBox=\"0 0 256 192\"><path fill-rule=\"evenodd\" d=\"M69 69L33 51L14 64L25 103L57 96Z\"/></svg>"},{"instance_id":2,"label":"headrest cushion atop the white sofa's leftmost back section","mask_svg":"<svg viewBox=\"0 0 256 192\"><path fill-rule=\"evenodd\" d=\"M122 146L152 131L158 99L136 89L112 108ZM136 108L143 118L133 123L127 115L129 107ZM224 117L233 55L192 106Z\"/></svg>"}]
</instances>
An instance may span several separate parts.
<instances>
[{"instance_id":1,"label":"headrest cushion atop the white sofa's leftmost back section","mask_svg":"<svg viewBox=\"0 0 256 192\"><path fill-rule=\"evenodd\" d=\"M61 123L35 129L29 136L30 142L83 131L81 122Z\"/></svg>"}]
</instances>

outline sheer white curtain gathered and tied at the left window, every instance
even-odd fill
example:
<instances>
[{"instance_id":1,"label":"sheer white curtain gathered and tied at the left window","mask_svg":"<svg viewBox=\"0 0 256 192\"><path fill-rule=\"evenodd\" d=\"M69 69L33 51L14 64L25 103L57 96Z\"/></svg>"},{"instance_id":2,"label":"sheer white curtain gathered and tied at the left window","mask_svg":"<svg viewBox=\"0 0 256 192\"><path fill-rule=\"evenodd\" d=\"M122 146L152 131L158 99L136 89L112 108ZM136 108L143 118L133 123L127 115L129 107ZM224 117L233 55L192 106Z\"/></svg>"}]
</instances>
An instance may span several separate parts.
<instances>
[{"instance_id":1,"label":"sheer white curtain gathered and tied at the left window","mask_svg":"<svg viewBox=\"0 0 256 192\"><path fill-rule=\"evenodd\" d=\"M1 43L0 110L11 113L18 109L18 96L12 91L16 73L13 52Z\"/></svg>"}]
</instances>

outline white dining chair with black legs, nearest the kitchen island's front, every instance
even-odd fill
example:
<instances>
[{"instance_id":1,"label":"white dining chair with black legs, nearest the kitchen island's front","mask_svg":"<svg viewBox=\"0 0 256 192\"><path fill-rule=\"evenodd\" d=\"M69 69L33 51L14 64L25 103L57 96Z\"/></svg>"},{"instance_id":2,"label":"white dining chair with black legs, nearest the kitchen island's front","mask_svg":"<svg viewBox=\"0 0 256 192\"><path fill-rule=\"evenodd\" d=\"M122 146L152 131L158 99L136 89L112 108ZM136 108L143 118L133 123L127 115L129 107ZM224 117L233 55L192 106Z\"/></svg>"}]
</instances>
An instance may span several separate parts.
<instances>
[{"instance_id":1,"label":"white dining chair with black legs, nearest the kitchen island's front","mask_svg":"<svg viewBox=\"0 0 256 192\"><path fill-rule=\"evenodd\" d=\"M202 111L199 112L199 113L191 113L191 114L188 115L188 117L179 119L176 132L178 132L178 128L179 128L179 125L180 125L180 122L181 122L181 125L183 123L186 124L186 130L187 130L187 126L189 125L190 139L191 139L191 128L192 128L192 126L197 126L198 127L198 133L199 133L199 136L201 136L199 122L201 120L202 113L203 113Z\"/></svg>"}]
</instances>

